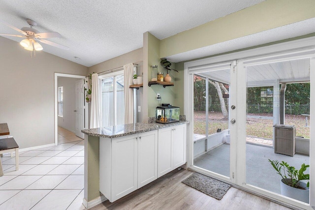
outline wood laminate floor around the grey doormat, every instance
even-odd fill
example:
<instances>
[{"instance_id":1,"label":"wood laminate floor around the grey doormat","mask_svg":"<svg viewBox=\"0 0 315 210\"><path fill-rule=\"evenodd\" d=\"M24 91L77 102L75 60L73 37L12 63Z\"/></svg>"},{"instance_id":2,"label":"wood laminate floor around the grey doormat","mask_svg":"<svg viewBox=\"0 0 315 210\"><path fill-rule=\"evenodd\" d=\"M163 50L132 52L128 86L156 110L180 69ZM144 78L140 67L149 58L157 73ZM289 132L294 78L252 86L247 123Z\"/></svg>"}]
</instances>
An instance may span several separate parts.
<instances>
[{"instance_id":1,"label":"wood laminate floor around the grey doormat","mask_svg":"<svg viewBox=\"0 0 315 210\"><path fill-rule=\"evenodd\" d=\"M105 201L91 210L289 210L234 187L218 201L181 182L192 173L176 169L118 201Z\"/></svg>"}]
</instances>

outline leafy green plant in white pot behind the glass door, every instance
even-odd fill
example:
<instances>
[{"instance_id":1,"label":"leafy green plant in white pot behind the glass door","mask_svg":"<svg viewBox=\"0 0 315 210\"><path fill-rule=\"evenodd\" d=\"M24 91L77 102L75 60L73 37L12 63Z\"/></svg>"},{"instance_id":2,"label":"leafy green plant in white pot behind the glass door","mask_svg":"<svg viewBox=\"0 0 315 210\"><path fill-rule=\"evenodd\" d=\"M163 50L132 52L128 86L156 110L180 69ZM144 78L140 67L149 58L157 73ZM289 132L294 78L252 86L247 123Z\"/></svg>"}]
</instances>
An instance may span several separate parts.
<instances>
[{"instance_id":1,"label":"leafy green plant in white pot behind the glass door","mask_svg":"<svg viewBox=\"0 0 315 210\"><path fill-rule=\"evenodd\" d=\"M281 163L278 160L268 159L268 161L277 171L277 174L282 177L280 181L281 194L308 204L310 197L310 175L304 174L304 172L310 165L303 163L300 170L297 170L284 161Z\"/></svg>"}]
</instances>

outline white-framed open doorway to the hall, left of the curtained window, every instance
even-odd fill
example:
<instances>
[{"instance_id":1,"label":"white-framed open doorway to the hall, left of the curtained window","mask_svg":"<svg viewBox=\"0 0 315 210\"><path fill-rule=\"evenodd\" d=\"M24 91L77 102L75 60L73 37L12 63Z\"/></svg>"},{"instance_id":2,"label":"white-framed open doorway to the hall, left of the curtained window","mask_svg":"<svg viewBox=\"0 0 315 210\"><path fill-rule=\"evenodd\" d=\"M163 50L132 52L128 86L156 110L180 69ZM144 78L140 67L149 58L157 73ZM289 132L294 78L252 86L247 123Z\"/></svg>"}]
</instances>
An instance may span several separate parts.
<instances>
[{"instance_id":1,"label":"white-framed open doorway to the hall, left of the curtained window","mask_svg":"<svg viewBox=\"0 0 315 210\"><path fill-rule=\"evenodd\" d=\"M84 138L81 130L89 125L89 106L84 99L85 79L85 76L55 73L55 145L58 145L59 136L64 141L68 141L67 135L73 140Z\"/></svg>"}]
</instances>

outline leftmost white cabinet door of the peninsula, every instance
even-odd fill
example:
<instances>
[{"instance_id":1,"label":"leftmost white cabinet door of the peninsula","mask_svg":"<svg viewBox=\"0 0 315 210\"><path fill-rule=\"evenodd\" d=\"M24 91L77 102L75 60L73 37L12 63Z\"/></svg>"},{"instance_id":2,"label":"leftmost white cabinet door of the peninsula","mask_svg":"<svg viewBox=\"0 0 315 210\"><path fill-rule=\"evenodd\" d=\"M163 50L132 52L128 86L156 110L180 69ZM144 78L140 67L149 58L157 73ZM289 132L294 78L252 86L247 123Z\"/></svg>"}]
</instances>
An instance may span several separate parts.
<instances>
[{"instance_id":1,"label":"leftmost white cabinet door of the peninsula","mask_svg":"<svg viewBox=\"0 0 315 210\"><path fill-rule=\"evenodd\" d=\"M138 134L112 139L111 202L137 189Z\"/></svg>"}]
</instances>

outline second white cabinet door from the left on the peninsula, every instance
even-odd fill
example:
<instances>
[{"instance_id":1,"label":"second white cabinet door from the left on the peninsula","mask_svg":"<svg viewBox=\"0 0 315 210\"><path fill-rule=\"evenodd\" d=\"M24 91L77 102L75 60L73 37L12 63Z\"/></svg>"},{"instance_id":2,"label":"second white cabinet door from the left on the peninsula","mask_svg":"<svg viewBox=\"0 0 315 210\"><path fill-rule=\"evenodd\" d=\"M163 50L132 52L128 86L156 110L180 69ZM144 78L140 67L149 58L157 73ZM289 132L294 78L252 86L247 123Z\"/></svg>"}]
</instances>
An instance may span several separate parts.
<instances>
[{"instance_id":1,"label":"second white cabinet door from the left on the peninsula","mask_svg":"<svg viewBox=\"0 0 315 210\"><path fill-rule=\"evenodd\" d=\"M158 131L140 133L138 138L138 188L158 179Z\"/></svg>"}]
</instances>

